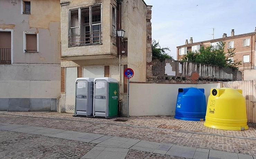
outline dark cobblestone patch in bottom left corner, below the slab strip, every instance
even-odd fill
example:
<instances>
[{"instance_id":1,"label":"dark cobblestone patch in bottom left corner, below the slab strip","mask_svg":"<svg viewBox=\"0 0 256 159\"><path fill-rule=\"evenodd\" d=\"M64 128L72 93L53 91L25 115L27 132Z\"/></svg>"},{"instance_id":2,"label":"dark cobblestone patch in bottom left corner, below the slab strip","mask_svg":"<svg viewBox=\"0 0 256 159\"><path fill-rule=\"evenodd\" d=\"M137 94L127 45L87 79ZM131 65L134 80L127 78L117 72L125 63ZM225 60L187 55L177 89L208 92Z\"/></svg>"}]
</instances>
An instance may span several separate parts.
<instances>
[{"instance_id":1,"label":"dark cobblestone patch in bottom left corner, below the slab strip","mask_svg":"<svg viewBox=\"0 0 256 159\"><path fill-rule=\"evenodd\" d=\"M96 144L0 131L1 159L80 159Z\"/></svg>"}]
</instances>

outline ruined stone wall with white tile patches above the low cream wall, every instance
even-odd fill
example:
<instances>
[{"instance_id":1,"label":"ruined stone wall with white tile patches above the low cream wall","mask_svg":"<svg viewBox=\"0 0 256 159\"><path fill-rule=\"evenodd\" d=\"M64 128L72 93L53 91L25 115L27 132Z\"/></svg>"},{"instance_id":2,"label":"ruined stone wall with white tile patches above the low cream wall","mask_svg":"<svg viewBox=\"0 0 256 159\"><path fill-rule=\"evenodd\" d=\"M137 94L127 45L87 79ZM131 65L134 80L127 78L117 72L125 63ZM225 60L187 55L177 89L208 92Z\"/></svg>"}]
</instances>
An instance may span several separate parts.
<instances>
[{"instance_id":1,"label":"ruined stone wall with white tile patches above the low cream wall","mask_svg":"<svg viewBox=\"0 0 256 159\"><path fill-rule=\"evenodd\" d=\"M153 58L152 65L154 83L196 84L242 80L242 73L235 68L157 58Z\"/></svg>"}]
</instances>

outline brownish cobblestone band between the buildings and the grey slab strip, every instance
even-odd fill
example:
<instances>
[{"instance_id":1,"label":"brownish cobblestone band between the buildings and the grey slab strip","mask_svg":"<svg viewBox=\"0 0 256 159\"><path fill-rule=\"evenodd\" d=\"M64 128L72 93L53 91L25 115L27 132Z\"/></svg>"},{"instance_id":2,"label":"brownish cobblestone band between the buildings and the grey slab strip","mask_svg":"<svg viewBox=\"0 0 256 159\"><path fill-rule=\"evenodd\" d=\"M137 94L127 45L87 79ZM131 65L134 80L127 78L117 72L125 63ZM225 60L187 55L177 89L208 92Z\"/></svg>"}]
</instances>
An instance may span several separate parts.
<instances>
[{"instance_id":1,"label":"brownish cobblestone band between the buildings and the grey slab strip","mask_svg":"<svg viewBox=\"0 0 256 159\"><path fill-rule=\"evenodd\" d=\"M256 155L255 128L249 128L246 131L211 129L204 127L203 122L176 120L172 116L142 116L118 119L128 119L128 121L117 122L114 121L116 119L80 118L73 117L72 114L56 112L0 112L0 122Z\"/></svg>"}]
</instances>

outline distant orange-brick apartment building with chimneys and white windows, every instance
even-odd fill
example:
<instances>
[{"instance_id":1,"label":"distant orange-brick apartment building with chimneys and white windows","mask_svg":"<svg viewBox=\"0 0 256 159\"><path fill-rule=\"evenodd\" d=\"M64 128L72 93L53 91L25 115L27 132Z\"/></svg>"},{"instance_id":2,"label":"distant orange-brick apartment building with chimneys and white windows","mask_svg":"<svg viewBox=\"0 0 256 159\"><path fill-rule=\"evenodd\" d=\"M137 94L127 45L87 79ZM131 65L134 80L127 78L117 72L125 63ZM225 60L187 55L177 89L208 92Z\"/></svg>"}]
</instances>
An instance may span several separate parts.
<instances>
[{"instance_id":1,"label":"distant orange-brick apartment building with chimneys and white windows","mask_svg":"<svg viewBox=\"0 0 256 159\"><path fill-rule=\"evenodd\" d=\"M222 38L218 39L193 43L193 38L191 37L190 43L188 40L186 40L185 45L177 46L177 60L181 60L182 56L187 54L189 50L198 51L202 46L207 47L210 45L212 45L214 48L218 48L218 42L223 41L226 42L225 52L228 51L228 48L236 48L236 54L231 59L237 59L242 62L242 65L238 66L239 71L256 69L255 35L256 29L254 32L240 35L235 35L235 31L232 29L230 36L227 36L227 34L224 33Z\"/></svg>"}]
</instances>

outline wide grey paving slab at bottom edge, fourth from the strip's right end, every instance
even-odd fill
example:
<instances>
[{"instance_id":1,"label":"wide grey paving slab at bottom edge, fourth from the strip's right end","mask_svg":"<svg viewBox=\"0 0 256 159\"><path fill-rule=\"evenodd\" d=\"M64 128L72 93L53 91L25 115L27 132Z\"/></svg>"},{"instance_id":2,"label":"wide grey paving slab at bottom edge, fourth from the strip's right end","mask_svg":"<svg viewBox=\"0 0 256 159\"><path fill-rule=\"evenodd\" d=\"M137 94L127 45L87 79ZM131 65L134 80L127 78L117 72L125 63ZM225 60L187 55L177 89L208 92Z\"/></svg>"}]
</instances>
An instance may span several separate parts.
<instances>
[{"instance_id":1,"label":"wide grey paving slab at bottom edge, fourth from the strip's right end","mask_svg":"<svg viewBox=\"0 0 256 159\"><path fill-rule=\"evenodd\" d=\"M166 155L193 158L196 148L173 145Z\"/></svg>"}]
</instances>

